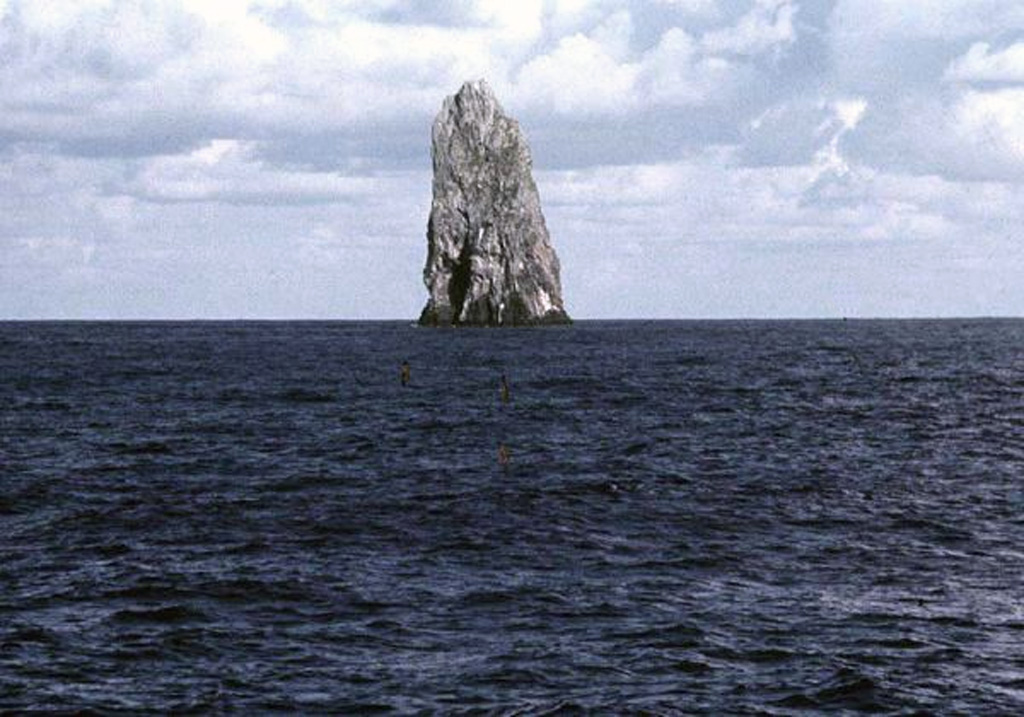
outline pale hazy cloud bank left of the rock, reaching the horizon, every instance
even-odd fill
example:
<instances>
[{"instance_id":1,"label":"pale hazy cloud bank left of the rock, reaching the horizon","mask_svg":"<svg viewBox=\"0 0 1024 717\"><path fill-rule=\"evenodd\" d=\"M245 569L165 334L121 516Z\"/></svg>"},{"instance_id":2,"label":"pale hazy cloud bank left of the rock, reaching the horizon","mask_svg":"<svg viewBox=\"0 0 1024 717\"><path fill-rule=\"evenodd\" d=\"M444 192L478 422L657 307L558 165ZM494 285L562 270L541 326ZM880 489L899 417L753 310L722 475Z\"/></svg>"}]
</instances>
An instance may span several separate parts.
<instances>
[{"instance_id":1,"label":"pale hazy cloud bank left of the rock, reaching the horizon","mask_svg":"<svg viewBox=\"0 0 1024 717\"><path fill-rule=\"evenodd\" d=\"M362 177L372 188L343 186L342 201L314 173L312 188L286 178L284 198L249 203L281 180L258 145L212 142L153 163L50 150L0 151L0 315L380 318L420 300L428 171ZM318 253L305 243L316 227L332 233Z\"/></svg>"}]
</instances>

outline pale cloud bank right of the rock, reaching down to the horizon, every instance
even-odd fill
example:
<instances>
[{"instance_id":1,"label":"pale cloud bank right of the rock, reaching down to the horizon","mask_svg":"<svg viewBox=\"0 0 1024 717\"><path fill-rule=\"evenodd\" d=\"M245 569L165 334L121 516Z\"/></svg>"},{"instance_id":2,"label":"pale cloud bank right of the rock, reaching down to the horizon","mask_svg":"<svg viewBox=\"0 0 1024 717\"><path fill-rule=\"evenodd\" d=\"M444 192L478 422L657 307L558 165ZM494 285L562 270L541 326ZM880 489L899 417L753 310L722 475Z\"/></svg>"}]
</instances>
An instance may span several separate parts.
<instances>
[{"instance_id":1,"label":"pale cloud bank right of the rock, reaching down to the horizon","mask_svg":"<svg viewBox=\"0 0 1024 717\"><path fill-rule=\"evenodd\" d=\"M992 313L1024 298L1013 185L852 169L835 202L805 201L813 160L745 167L722 147L539 183L567 296L586 287L597 315Z\"/></svg>"}]
</instances>

